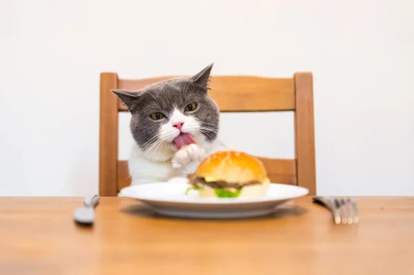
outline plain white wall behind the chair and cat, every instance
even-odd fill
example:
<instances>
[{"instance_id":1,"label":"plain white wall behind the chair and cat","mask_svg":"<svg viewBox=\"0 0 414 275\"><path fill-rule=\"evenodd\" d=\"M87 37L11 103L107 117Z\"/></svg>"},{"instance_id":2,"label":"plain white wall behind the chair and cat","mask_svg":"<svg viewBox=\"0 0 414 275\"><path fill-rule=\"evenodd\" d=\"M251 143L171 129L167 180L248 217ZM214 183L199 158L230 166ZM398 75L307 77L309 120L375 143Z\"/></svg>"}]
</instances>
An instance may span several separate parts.
<instances>
[{"instance_id":1,"label":"plain white wall behind the chair and cat","mask_svg":"<svg viewBox=\"0 0 414 275\"><path fill-rule=\"evenodd\" d=\"M413 14L411 0L1 0L0 195L97 192L100 72L213 61L213 74L314 73L319 194L414 195ZM222 127L230 147L292 157L291 123L226 114Z\"/></svg>"}]
</instances>

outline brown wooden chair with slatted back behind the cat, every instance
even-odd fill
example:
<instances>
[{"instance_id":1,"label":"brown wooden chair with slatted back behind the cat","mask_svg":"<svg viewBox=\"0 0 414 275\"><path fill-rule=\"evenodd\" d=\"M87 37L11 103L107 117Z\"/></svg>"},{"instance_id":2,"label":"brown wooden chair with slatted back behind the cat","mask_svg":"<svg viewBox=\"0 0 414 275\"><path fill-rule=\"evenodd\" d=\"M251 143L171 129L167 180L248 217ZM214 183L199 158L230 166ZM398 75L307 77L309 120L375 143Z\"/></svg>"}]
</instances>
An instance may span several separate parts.
<instances>
[{"instance_id":1,"label":"brown wooden chair with slatted back behind the cat","mask_svg":"<svg viewBox=\"0 0 414 275\"><path fill-rule=\"evenodd\" d=\"M139 90L169 79L119 79L116 73L101 74L99 129L99 194L117 196L130 185L128 161L118 160L118 112L126 112L111 90ZM313 77L299 72L291 79L263 77L211 77L209 94L220 112L294 111L296 159L262 159L273 183L300 185L316 193Z\"/></svg>"}]
</instances>

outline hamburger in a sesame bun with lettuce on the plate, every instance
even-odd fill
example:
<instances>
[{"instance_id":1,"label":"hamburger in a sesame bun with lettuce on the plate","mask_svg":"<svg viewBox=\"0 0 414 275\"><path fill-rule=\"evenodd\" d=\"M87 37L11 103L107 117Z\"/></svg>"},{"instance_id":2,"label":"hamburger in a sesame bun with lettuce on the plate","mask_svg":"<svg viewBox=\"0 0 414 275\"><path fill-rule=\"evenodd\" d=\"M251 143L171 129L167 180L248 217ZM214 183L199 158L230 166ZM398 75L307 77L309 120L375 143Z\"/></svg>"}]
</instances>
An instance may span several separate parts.
<instances>
[{"instance_id":1,"label":"hamburger in a sesame bun with lettuce on the plate","mask_svg":"<svg viewBox=\"0 0 414 275\"><path fill-rule=\"evenodd\" d=\"M203 198L259 197L266 195L269 179L259 159L233 150L210 154L194 174L188 175L190 190Z\"/></svg>"}]
</instances>

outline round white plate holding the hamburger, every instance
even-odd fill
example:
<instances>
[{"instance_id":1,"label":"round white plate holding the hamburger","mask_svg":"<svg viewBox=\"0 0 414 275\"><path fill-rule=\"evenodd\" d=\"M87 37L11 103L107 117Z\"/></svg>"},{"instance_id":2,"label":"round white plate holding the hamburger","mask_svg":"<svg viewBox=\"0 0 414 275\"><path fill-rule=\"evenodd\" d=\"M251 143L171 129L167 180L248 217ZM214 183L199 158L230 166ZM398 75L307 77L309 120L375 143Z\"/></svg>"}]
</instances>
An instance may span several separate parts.
<instances>
[{"instance_id":1,"label":"round white plate holding the hamburger","mask_svg":"<svg viewBox=\"0 0 414 275\"><path fill-rule=\"evenodd\" d=\"M277 205L308 194L304 187L270 183L266 196L262 198L199 198L197 192L184 194L188 186L188 183L131 185L122 189L119 195L135 198L167 216L246 218L270 214Z\"/></svg>"}]
</instances>

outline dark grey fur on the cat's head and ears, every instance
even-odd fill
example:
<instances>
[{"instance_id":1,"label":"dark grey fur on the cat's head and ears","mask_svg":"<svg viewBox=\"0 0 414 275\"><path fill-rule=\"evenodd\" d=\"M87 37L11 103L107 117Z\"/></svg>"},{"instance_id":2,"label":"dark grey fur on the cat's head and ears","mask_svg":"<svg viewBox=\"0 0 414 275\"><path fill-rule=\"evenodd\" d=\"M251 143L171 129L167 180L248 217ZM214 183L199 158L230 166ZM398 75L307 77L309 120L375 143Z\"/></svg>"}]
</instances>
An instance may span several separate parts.
<instances>
[{"instance_id":1,"label":"dark grey fur on the cat's head and ears","mask_svg":"<svg viewBox=\"0 0 414 275\"><path fill-rule=\"evenodd\" d=\"M213 128L201 132L207 141L215 141L219 127L219 109L207 94L212 67L213 64L210 64L193 77L160 81L137 92L112 91L119 96L132 114L130 130L139 147L142 148L144 145L148 147L148 144L155 143L157 139L152 141L150 139L159 133L162 124L168 122L174 108L184 112L184 108L190 103L197 103L197 109L184 114L194 116L203 128ZM150 118L153 112L161 112L166 117L154 121Z\"/></svg>"}]
</instances>

